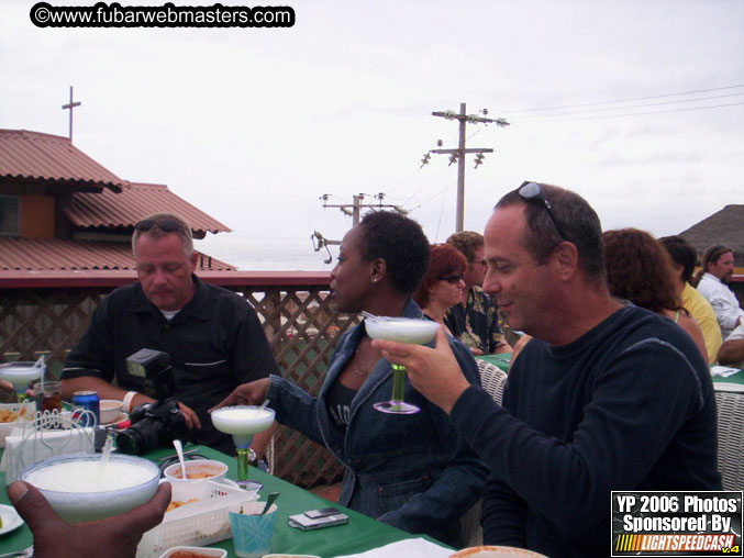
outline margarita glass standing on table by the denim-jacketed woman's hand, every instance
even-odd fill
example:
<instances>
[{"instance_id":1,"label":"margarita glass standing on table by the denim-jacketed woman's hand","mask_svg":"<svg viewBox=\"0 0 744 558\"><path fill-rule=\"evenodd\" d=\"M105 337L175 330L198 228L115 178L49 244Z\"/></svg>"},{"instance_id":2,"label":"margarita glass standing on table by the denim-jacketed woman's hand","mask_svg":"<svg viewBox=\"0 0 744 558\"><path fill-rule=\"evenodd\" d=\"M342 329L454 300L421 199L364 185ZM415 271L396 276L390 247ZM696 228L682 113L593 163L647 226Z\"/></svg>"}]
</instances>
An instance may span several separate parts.
<instances>
[{"instance_id":1,"label":"margarita glass standing on table by the denim-jacketed woman's hand","mask_svg":"<svg viewBox=\"0 0 744 558\"><path fill-rule=\"evenodd\" d=\"M237 484L245 490L259 487L248 480L249 447L254 434L271 426L274 414L273 409L254 405L222 406L212 411L214 427L233 437L237 449Z\"/></svg>"}]
</instances>

